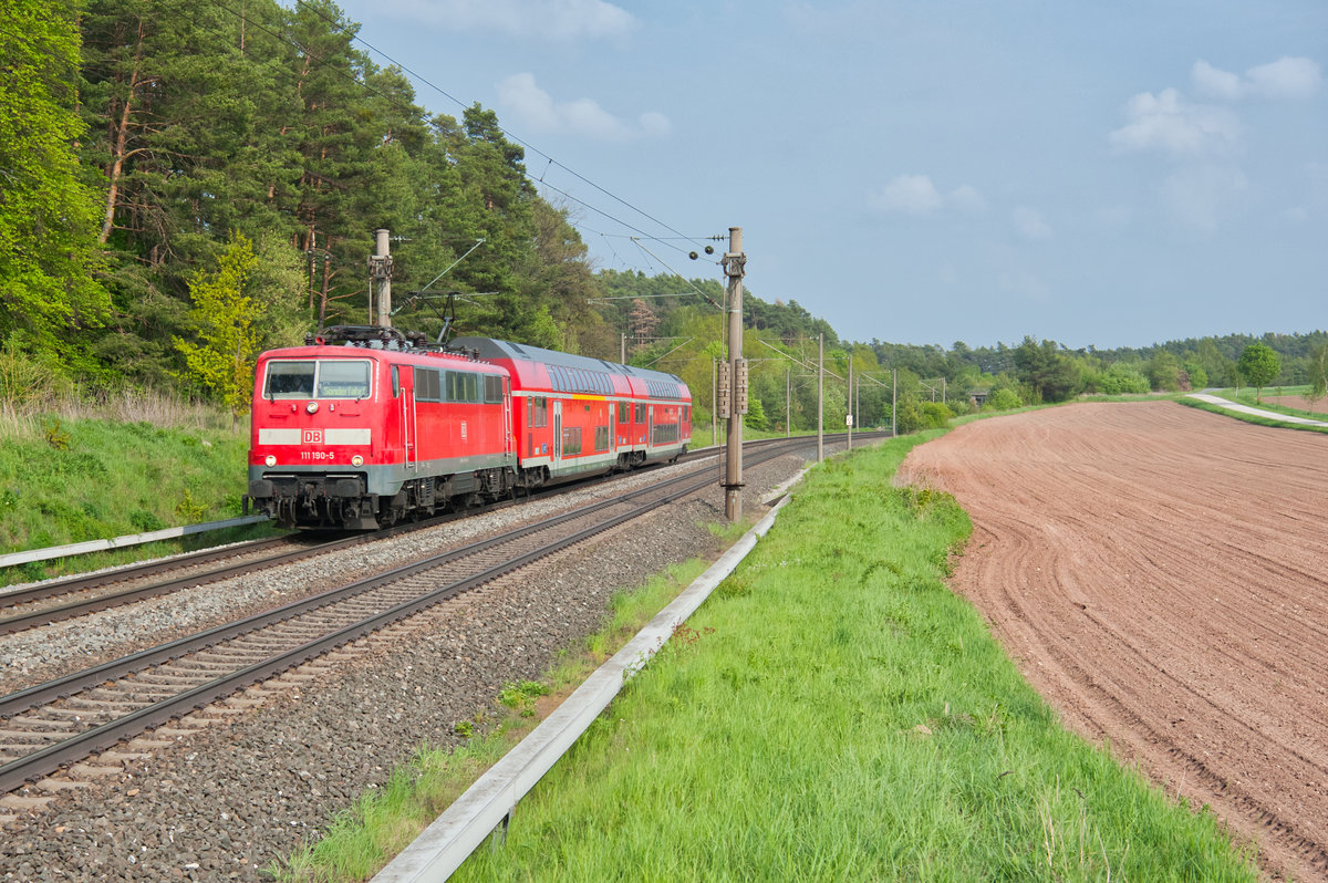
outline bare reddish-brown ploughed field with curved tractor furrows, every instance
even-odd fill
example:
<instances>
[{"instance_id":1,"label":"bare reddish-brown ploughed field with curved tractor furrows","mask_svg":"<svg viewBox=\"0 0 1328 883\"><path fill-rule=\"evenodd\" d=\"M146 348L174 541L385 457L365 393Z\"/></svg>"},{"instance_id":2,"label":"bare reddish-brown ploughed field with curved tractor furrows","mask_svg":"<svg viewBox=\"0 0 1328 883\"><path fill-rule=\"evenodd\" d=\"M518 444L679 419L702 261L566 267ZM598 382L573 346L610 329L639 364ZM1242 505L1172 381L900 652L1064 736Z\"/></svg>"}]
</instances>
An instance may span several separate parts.
<instances>
[{"instance_id":1,"label":"bare reddish-brown ploughed field with curved tractor furrows","mask_svg":"<svg viewBox=\"0 0 1328 883\"><path fill-rule=\"evenodd\" d=\"M961 426L900 481L969 513L954 586L1069 726L1328 880L1328 437L1080 404Z\"/></svg>"}]
</instances>

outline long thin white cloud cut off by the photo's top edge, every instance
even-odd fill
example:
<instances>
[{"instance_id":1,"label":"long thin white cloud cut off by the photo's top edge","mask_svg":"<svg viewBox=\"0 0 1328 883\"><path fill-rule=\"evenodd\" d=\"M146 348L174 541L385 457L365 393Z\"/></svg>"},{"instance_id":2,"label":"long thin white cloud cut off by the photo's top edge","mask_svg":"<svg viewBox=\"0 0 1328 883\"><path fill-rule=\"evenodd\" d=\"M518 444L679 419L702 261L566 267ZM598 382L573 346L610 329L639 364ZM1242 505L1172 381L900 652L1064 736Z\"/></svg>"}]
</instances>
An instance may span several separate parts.
<instances>
[{"instance_id":1,"label":"long thin white cloud cut off by the photo's top edge","mask_svg":"<svg viewBox=\"0 0 1328 883\"><path fill-rule=\"evenodd\" d=\"M604 0L384 0L384 11L446 31L551 40L622 40L636 19Z\"/></svg>"}]
</instances>

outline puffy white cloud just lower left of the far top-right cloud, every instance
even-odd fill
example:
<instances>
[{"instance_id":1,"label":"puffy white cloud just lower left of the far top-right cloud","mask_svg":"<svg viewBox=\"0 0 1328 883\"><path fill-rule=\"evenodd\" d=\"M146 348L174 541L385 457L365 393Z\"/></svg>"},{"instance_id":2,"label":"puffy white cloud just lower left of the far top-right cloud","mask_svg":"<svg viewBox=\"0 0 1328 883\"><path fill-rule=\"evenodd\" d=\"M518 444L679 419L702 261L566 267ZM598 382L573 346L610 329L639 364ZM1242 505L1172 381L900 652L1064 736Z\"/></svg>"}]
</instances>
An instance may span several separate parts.
<instances>
[{"instance_id":1,"label":"puffy white cloud just lower left of the far top-right cloud","mask_svg":"<svg viewBox=\"0 0 1328 883\"><path fill-rule=\"evenodd\" d=\"M1126 105L1129 122L1112 133L1118 150L1173 155L1220 153L1240 138L1240 121L1226 108L1193 104L1175 89L1142 92Z\"/></svg>"}]
</instances>

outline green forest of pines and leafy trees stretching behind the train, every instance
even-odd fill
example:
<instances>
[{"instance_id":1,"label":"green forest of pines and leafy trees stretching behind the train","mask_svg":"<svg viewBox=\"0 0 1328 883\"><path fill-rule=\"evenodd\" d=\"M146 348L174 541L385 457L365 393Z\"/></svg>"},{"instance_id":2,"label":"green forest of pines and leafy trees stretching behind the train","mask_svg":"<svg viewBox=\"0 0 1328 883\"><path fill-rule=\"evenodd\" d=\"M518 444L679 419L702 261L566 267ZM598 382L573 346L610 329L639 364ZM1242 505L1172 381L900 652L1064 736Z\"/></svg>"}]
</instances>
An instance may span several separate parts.
<instances>
[{"instance_id":1,"label":"green forest of pines and leafy trees stretching behind the train","mask_svg":"<svg viewBox=\"0 0 1328 883\"><path fill-rule=\"evenodd\" d=\"M371 321L367 258L392 232L393 323L681 374L709 418L724 291L714 279L596 270L494 112L417 104L356 48L329 0L11 0L0 25L0 393L179 390L244 408L252 359L319 325ZM412 293L422 292L422 293ZM744 299L754 426L902 429L975 402L1323 373L1325 336L1232 335L1142 349L850 343L797 301Z\"/></svg>"}]
</instances>

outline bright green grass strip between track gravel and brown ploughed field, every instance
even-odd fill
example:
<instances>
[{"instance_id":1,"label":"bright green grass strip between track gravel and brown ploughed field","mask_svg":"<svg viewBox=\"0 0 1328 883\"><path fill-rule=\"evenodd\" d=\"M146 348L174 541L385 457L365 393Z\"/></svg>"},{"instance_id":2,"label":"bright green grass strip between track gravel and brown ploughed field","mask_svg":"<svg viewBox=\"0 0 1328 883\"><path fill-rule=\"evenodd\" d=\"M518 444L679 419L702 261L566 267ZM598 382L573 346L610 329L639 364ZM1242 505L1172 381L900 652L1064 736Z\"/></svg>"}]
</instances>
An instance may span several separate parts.
<instances>
[{"instance_id":1,"label":"bright green grass strip between track gravel and brown ploughed field","mask_svg":"<svg viewBox=\"0 0 1328 883\"><path fill-rule=\"evenodd\" d=\"M946 587L969 526L892 486L919 441L814 470L456 879L1258 879L1211 815L1061 729ZM286 879L364 879L466 763L422 752Z\"/></svg>"}]
</instances>

